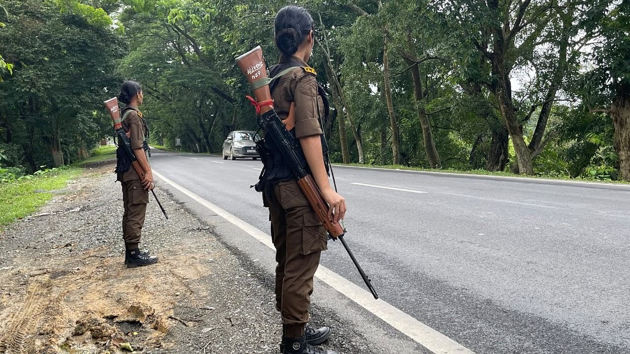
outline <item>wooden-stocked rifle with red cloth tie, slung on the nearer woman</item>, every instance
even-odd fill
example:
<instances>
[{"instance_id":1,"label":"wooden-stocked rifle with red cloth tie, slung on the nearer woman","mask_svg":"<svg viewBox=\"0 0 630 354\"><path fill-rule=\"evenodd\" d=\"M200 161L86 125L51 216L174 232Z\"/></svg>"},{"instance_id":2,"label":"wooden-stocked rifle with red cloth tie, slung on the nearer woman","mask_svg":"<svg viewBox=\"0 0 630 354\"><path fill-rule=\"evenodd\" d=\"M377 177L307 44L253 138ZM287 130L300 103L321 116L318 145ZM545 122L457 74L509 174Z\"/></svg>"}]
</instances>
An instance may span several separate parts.
<instances>
[{"instance_id":1,"label":"wooden-stocked rifle with red cloth tie, slung on the nearer woman","mask_svg":"<svg viewBox=\"0 0 630 354\"><path fill-rule=\"evenodd\" d=\"M358 264L357 259L343 239L345 230L339 223L333 222L333 220L328 217L328 203L324 200L315 180L307 173L304 162L295 153L299 142L289 133L285 123L280 120L276 111L273 110L273 100L269 90L269 84L272 79L267 77L262 49L259 46L239 56L236 58L236 64L238 64L243 74L247 76L249 85L254 90L256 100L249 96L248 99L256 107L258 125L260 125L260 127L265 130L266 134L269 134L271 139L277 144L282 157L284 157L284 160L290 165L297 184L300 186L302 193L304 193L304 196L318 216L319 221L326 227L326 230L333 240L341 240L341 244L343 244L343 247L350 255L354 265L357 266L357 270L363 278L365 285L367 285L370 292L372 292L374 299L378 299L379 295L376 294L376 290L372 287L370 278L365 275L365 271L363 271L363 268Z\"/></svg>"}]
</instances>

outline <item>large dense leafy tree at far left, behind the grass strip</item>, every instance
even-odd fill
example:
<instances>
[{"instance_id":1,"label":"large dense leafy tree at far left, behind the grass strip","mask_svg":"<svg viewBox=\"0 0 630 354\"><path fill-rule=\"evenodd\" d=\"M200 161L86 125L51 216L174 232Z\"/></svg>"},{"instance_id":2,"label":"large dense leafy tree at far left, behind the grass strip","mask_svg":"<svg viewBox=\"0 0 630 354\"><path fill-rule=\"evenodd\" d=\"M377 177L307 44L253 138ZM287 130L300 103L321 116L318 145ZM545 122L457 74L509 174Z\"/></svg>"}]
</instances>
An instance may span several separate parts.
<instances>
[{"instance_id":1,"label":"large dense leafy tree at far left, behind the grass strip","mask_svg":"<svg viewBox=\"0 0 630 354\"><path fill-rule=\"evenodd\" d=\"M33 170L59 166L107 131L101 107L117 81L120 33L103 9L77 1L8 1L6 10L0 52L14 67L0 86L4 142L19 143Z\"/></svg>"}]
</instances>

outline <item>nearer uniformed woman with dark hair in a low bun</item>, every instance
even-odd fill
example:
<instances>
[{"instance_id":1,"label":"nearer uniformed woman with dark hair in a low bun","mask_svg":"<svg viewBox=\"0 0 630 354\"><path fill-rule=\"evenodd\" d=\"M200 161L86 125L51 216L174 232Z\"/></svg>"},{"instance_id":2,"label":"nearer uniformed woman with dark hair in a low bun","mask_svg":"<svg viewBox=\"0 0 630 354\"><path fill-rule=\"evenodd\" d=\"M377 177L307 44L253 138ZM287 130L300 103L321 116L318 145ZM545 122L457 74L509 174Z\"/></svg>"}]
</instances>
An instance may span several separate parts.
<instances>
[{"instance_id":1,"label":"nearer uniformed woman with dark hair in a low bun","mask_svg":"<svg viewBox=\"0 0 630 354\"><path fill-rule=\"evenodd\" d=\"M295 67L273 81L270 89L274 107L280 119L289 115L295 103L295 127L291 130L299 140L299 155L306 158L314 180L326 202L331 206L336 222L346 212L345 200L331 188L324 164L321 122L328 114L328 100L316 80L315 71L306 63L314 44L314 23L304 8L287 6L275 17L275 43L280 50L279 64L270 67L270 77ZM327 118L327 117L326 117ZM314 347L331 334L328 327L314 329L309 321L309 304L313 276L319 265L321 251L327 249L327 232L304 194L292 178L272 140L266 139L270 159L261 176L263 199L270 212L272 238L276 248L276 307L282 314L282 353L336 354L336 351ZM303 154L302 154L303 153Z\"/></svg>"}]
</instances>

